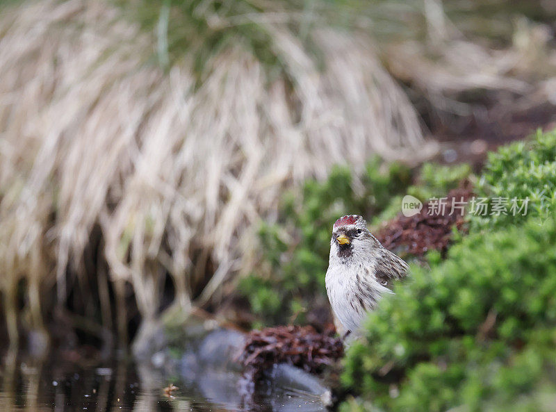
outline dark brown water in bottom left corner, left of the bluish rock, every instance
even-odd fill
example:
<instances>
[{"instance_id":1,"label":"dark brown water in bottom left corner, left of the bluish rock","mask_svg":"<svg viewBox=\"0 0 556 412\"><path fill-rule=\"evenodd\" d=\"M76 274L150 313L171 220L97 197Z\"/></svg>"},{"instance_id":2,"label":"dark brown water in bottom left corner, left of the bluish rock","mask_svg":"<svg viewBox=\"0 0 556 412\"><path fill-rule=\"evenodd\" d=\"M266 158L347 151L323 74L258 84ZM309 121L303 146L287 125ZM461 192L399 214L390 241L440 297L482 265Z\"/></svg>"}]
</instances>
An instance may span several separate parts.
<instances>
[{"instance_id":1,"label":"dark brown water in bottom left corner, left of the bluish rock","mask_svg":"<svg viewBox=\"0 0 556 412\"><path fill-rule=\"evenodd\" d=\"M113 363L84 368L59 359L6 356L1 368L3 411L155 411L171 410L163 386L142 387L133 365ZM137 409L140 404L147 409ZM160 405L158 407L157 405Z\"/></svg>"}]
</instances>

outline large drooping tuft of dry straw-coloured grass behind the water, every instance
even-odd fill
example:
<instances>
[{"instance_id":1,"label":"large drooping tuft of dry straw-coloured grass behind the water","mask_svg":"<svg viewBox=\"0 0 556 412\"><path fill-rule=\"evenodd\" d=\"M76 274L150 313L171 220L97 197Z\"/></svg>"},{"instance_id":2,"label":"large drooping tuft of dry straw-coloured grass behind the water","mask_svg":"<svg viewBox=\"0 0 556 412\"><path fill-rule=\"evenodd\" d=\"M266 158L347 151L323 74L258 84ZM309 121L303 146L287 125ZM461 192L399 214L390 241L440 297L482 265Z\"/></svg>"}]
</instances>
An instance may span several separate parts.
<instances>
[{"instance_id":1,"label":"large drooping tuft of dry straw-coloured grass behind the water","mask_svg":"<svg viewBox=\"0 0 556 412\"><path fill-rule=\"evenodd\" d=\"M11 338L18 282L40 329L41 290L56 285L67 299L95 226L115 293L131 283L152 320L165 273L188 308L249 270L252 229L275 215L284 188L335 163L363 167L371 154L416 161L434 151L369 38L311 30L318 62L287 19L257 24L272 33L279 76L238 41L208 58L199 83L188 53L167 71L152 63L163 24L156 38L106 1L3 10L0 264Z\"/></svg>"}]
</instances>

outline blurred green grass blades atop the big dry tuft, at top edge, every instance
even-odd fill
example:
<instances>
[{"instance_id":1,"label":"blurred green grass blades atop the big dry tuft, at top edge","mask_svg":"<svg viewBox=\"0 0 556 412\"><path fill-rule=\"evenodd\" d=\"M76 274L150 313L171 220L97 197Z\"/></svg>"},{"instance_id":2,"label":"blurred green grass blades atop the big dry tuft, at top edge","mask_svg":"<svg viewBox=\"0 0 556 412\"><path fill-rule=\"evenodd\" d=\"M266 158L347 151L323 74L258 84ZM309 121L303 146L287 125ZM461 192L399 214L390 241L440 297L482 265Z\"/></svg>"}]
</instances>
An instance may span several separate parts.
<instances>
[{"instance_id":1,"label":"blurred green grass blades atop the big dry tuft, at top edge","mask_svg":"<svg viewBox=\"0 0 556 412\"><path fill-rule=\"evenodd\" d=\"M317 64L322 56L310 35L315 27L338 22L340 10L350 21L350 7L336 3L276 0L256 3L247 0L116 0L142 28L156 35L156 60L165 68L183 59L193 61L198 81L219 52L240 47L252 53L267 70L268 79L287 74L284 52L276 44L276 24L302 40ZM278 20L268 15L280 15ZM349 17L351 16L351 17ZM347 26L347 23L345 24Z\"/></svg>"}]
</instances>

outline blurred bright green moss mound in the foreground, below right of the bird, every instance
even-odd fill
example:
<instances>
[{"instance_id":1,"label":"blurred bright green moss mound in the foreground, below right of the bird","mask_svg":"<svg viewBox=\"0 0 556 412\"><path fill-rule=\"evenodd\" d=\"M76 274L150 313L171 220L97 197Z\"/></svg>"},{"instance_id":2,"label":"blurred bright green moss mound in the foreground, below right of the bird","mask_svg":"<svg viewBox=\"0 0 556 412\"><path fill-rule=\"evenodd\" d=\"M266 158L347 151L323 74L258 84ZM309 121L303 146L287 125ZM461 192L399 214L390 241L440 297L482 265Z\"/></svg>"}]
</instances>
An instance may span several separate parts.
<instances>
[{"instance_id":1,"label":"blurred bright green moss mound in the foreground, below right of the bird","mask_svg":"<svg viewBox=\"0 0 556 412\"><path fill-rule=\"evenodd\" d=\"M395 292L348 351L343 384L362 397L344 410L538 411L556 393L553 217L470 235Z\"/></svg>"}]
</instances>

